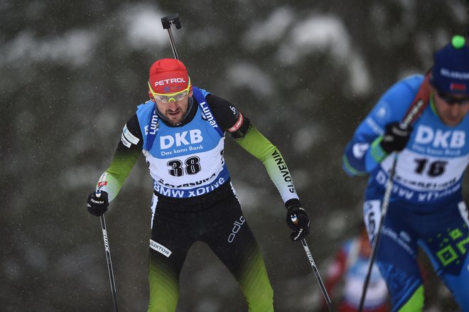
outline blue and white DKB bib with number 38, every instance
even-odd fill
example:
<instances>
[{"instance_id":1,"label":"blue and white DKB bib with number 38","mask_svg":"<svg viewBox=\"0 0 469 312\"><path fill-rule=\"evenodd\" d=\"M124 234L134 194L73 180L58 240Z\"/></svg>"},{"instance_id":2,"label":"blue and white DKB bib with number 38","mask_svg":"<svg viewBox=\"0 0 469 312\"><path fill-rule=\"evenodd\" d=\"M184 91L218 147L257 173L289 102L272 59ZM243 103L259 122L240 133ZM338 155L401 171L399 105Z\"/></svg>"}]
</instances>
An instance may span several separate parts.
<instances>
[{"instance_id":1,"label":"blue and white DKB bib with number 38","mask_svg":"<svg viewBox=\"0 0 469 312\"><path fill-rule=\"evenodd\" d=\"M194 197L215 190L230 178L223 158L225 133L205 101L208 94L193 87L197 112L180 127L159 122L153 101L137 108L144 155L156 193Z\"/></svg>"}]
</instances>

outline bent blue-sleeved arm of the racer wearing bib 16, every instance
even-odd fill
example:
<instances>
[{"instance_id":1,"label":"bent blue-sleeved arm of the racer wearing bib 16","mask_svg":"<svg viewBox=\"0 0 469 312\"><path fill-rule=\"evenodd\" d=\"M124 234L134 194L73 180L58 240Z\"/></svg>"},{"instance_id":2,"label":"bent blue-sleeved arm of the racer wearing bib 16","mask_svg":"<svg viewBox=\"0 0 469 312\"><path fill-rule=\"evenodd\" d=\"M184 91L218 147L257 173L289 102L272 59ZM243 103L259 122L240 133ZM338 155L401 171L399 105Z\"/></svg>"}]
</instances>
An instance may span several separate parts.
<instances>
[{"instance_id":1,"label":"bent blue-sleeved arm of the racer wearing bib 16","mask_svg":"<svg viewBox=\"0 0 469 312\"><path fill-rule=\"evenodd\" d=\"M411 76L397 82L384 93L345 147L345 173L350 176L371 173L388 156L380 144L384 128L404 117L422 81L422 76Z\"/></svg>"}]
</instances>

